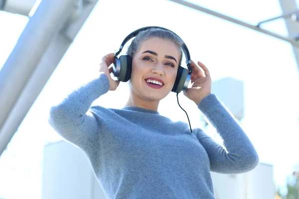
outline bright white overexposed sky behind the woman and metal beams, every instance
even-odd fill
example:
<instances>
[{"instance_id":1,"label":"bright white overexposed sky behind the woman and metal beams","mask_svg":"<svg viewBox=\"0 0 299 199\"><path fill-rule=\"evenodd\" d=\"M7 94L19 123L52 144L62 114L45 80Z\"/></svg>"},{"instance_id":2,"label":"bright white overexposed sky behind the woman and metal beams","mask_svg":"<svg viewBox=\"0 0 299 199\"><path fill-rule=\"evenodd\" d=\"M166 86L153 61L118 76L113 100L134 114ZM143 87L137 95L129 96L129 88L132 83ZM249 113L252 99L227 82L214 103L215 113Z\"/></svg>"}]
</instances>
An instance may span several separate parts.
<instances>
[{"instance_id":1,"label":"bright white overexposed sky behind the woman and metal beams","mask_svg":"<svg viewBox=\"0 0 299 199\"><path fill-rule=\"evenodd\" d=\"M281 14L278 1L273 0L196 2L251 24ZM0 12L0 67L27 22L27 17ZM191 59L208 67L212 80L232 77L243 81L242 127L261 162L274 165L276 184L284 184L299 163L295 149L299 140L299 70L291 45L167 0L100 0L0 157L0 197L17 199L21 193L23 199L40 198L42 148L60 140L47 123L49 108L94 77L101 57L118 49L130 32L148 25L176 32L188 46ZM263 28L287 35L283 20ZM120 108L127 97L128 85L121 84L94 103ZM179 100L192 127L201 127L194 104L183 95ZM172 120L187 122L174 94L161 101L159 111Z\"/></svg>"}]
</instances>

